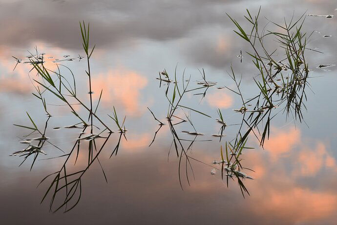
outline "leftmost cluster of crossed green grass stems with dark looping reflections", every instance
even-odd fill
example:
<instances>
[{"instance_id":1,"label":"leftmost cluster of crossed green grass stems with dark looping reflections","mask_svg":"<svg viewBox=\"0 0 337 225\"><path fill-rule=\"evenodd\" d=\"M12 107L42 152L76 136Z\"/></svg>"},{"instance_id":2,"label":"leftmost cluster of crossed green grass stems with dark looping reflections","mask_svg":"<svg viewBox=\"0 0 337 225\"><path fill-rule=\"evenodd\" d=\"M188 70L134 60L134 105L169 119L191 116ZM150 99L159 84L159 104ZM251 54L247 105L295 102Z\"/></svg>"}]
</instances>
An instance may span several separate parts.
<instances>
[{"instance_id":1,"label":"leftmost cluster of crossed green grass stems with dark looping reflections","mask_svg":"<svg viewBox=\"0 0 337 225\"><path fill-rule=\"evenodd\" d=\"M31 122L31 126L23 126L23 125L17 125L14 124L15 126L25 128L31 133L28 135L24 135L23 137L25 139L21 138L21 143L26 144L27 147L21 151L15 152L12 155L20 156L23 157L23 161L21 164L29 157L33 157L33 162L31 164L30 170L32 169L34 163L36 162L36 159L38 158L39 154L45 155L46 153L42 150L44 144L47 142L53 147L57 148L58 150L62 151L64 155L54 157L54 158L65 158L64 163L61 167L61 169L55 173L52 173L48 176L46 176L40 183L39 185L47 180L49 177L54 176L54 179L52 180L51 184L49 185L47 191L45 192L41 203L47 198L47 196L51 196L50 199L50 211L56 212L60 209L64 209L64 212L67 212L74 208L80 201L80 198L82 196L82 177L84 176L85 172L90 168L90 166L96 161L99 163L103 175L105 178L105 181L107 182L105 172L103 169L103 166L99 160L99 155L103 151L105 144L107 143L108 139L114 133L102 120L101 118L97 115L97 109L99 107L99 103L102 97L102 92L100 94L100 97L98 99L97 105L95 108L93 108L93 100L92 100L92 89L91 89L91 71L90 71L90 57L95 49L95 45L92 49L89 49L89 23L85 24L80 23L81 27L81 35L82 35L82 40L83 40L83 48L84 52L86 54L86 60L87 60L87 70L85 70L86 75L88 76L88 83L89 83L89 96L90 96L90 105L86 106L82 100L80 100L77 90L76 90L76 79L75 75L71 71L69 67L66 67L61 64L56 64L57 65L57 71L50 70L46 67L44 67L43 63L43 55L44 53L40 54L38 52L38 49L36 47L36 54L32 54L28 57L29 58L29 63L33 66L33 68L30 70L35 70L37 72L37 78L31 79L31 82L37 91L37 93L33 93L34 96L36 96L39 100L42 101L43 109L47 114L47 120L44 126L44 129L41 130L38 128L32 117L29 115L28 112L27 115L29 117L29 120ZM18 61L19 63L19 61ZM68 70L69 74L71 75L71 81L67 79L63 73L61 73L60 67L65 68ZM29 72L30 72L29 71ZM28 73L29 75L29 73ZM29 76L30 77L30 76ZM44 97L45 93L51 93L55 97L57 97L61 102L63 102L64 105L59 105L59 106L68 106L70 111L79 119L79 123L71 126L67 126L64 128L74 128L74 129L82 129L81 133L79 134L78 138L76 139L73 147L71 148L69 153L65 153L61 148L58 146L54 145L51 141L48 140L48 137L46 137L46 129L48 126L48 121L52 117L52 115L48 112L47 110L47 103ZM79 113L76 112L74 109L73 105L70 103L70 99L76 100L76 105L80 105L85 109L89 115L87 120L85 120L82 116L79 115ZM116 147L112 151L110 158L115 154L117 155L120 142L122 139L122 136L125 137L126 139L126 128L124 126L125 119L124 117L123 122L120 123L117 112L115 110L115 107L113 107L113 112L112 116L108 115L114 123L118 127L118 131L120 133L118 142L116 144ZM93 118L97 121L100 122L100 124L104 127L104 130L101 130L99 127L95 126ZM85 132L90 128L90 133L89 135L84 135ZM55 128L54 128L55 129ZM94 129L98 130L100 133L95 134ZM107 131L107 136L104 136L103 133L106 133ZM36 138L30 138L31 135L39 135L39 137ZM103 144L101 147L98 145L99 142L97 141L98 138L104 139ZM82 141L88 141L88 160L87 160L87 165L84 169L79 170L74 173L67 173L67 168L70 165L75 165L80 153L80 146L82 144ZM38 142L35 144L35 142ZM75 158L76 156L76 158ZM71 159L75 158L74 162L71 162ZM53 158L45 158L45 159L53 159ZM44 159L43 159L44 160ZM21 165L20 164L20 165ZM38 186L39 186L38 185ZM56 205L56 206L55 206Z\"/></svg>"}]
</instances>

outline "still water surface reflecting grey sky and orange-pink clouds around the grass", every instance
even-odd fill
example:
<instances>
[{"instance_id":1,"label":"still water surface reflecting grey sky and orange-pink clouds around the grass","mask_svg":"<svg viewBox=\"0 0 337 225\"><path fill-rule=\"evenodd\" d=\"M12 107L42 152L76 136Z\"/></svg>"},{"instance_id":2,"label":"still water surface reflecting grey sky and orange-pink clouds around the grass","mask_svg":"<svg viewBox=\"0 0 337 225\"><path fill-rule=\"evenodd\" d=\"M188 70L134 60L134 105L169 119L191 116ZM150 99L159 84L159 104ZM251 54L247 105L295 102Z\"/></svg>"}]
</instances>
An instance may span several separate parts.
<instances>
[{"instance_id":1,"label":"still water surface reflecting grey sky and orange-pink clouds around the grass","mask_svg":"<svg viewBox=\"0 0 337 225\"><path fill-rule=\"evenodd\" d=\"M332 19L307 17L304 30L314 31L310 48L324 52L308 52L311 70L307 92L308 112L305 123L294 125L291 117L282 112L275 117L269 140L264 149L252 136L244 153L245 166L254 180L245 180L251 196L244 199L237 182L221 180L211 167L192 162L195 180L189 186L183 179L179 185L178 160L169 154L169 127L164 125L151 147L158 123L146 107L165 121L166 86L159 88L158 71L167 69L178 74L186 68L192 80L201 79L198 68L205 68L207 79L216 87L233 88L227 71L234 68L243 76L243 94L248 98L256 93L251 59L245 54L248 46L232 30L225 12L243 22L245 9L261 14L275 22L283 17L308 14L335 15ZM291 7L290 7L291 6ZM321 64L337 64L336 8L333 0L296 0L273 2L260 0L0 0L0 224L335 224L337 220L337 152L336 141L336 67L329 71L316 68ZM26 124L29 112L44 126L45 115L41 102L31 95L33 86L28 77L31 66L15 67L12 55L24 59L27 50L37 46L45 52L46 67L55 69L55 59L64 55L75 58L65 61L76 74L81 99L88 99L84 68L86 62L81 46L79 21L90 22L92 44L97 44L92 57L93 98L98 100L103 89L98 113L126 115L127 141L122 140L117 157L109 159L118 135L112 135L100 160L105 168L105 183L99 165L94 165L83 179L83 197L76 208L66 214L48 212L48 203L40 205L46 185L35 188L41 179L60 168L62 160L40 160L31 172L31 161L21 167L21 158L8 157L22 148L17 136L24 130L12 124ZM266 23L267 21L263 21ZM269 24L270 28L274 28ZM324 35L332 35L323 38ZM273 47L273 42L268 43ZM242 63L236 56L243 52ZM53 57L49 58L48 57ZM277 55L282 58L283 55ZM65 70L64 70L65 71ZM30 74L32 77L35 74ZM85 77L86 78L86 77ZM88 103L88 100L85 100ZM240 115L233 109L241 107L238 96L226 89L210 88L204 99L188 94L188 103L212 118L191 113L198 132L211 142L197 142L191 151L193 158L211 164L220 159L220 145L235 136L237 127L226 128L221 143L212 137L220 125L216 110L220 108L229 124L236 124ZM59 104L51 99L48 104ZM77 122L66 107L48 106L53 113L48 135L62 149L69 149L79 132L52 130ZM74 106L84 117L87 112ZM183 112L179 116L184 117ZM116 129L116 128L115 128ZM188 130L188 124L179 131ZM190 138L187 134L183 137ZM84 148L85 149L85 148ZM45 150L48 157L60 154L52 146ZM86 162L80 155L79 167ZM169 159L169 160L168 160ZM76 169L76 168L73 168ZM20 216L18 216L18 214ZM6 218L6 219L4 219Z\"/></svg>"}]
</instances>

